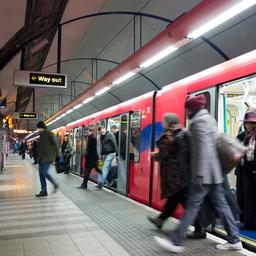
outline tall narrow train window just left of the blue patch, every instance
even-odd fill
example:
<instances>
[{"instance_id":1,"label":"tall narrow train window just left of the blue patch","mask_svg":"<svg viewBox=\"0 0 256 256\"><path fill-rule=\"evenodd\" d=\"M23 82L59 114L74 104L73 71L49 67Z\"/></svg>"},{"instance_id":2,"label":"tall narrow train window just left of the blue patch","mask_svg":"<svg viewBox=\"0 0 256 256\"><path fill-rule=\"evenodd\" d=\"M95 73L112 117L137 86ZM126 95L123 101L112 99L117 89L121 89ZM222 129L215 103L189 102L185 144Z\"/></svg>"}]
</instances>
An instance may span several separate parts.
<instances>
[{"instance_id":1,"label":"tall narrow train window just left of the blue patch","mask_svg":"<svg viewBox=\"0 0 256 256\"><path fill-rule=\"evenodd\" d=\"M130 158L135 163L140 161L140 126L141 113L133 112L131 114L130 128Z\"/></svg>"}]
</instances>

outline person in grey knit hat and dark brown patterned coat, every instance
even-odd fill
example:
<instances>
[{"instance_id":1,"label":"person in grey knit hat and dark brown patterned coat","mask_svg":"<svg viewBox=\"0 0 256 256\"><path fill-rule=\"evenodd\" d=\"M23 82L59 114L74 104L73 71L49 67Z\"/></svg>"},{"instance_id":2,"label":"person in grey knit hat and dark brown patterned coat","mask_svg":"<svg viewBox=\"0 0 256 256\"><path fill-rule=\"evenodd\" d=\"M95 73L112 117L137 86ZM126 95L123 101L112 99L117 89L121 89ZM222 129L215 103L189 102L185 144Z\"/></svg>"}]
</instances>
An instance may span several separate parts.
<instances>
[{"instance_id":1,"label":"person in grey knit hat and dark brown patterned coat","mask_svg":"<svg viewBox=\"0 0 256 256\"><path fill-rule=\"evenodd\" d=\"M189 176L188 137L182 130L178 116L172 113L165 114L162 125L164 131L157 140L159 152L152 152L151 155L154 160L160 162L161 198L167 198L167 201L159 216L148 217L159 229L174 213L179 203L185 208Z\"/></svg>"}]
</instances>

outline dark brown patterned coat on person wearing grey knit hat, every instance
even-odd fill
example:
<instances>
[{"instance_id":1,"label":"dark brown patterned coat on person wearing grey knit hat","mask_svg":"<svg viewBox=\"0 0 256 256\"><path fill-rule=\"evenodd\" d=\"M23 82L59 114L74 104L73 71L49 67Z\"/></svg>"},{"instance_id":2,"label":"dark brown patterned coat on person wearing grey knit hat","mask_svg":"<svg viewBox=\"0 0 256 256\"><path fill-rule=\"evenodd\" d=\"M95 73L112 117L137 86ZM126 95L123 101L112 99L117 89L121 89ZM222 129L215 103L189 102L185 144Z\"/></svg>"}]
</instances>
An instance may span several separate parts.
<instances>
[{"instance_id":1,"label":"dark brown patterned coat on person wearing grey knit hat","mask_svg":"<svg viewBox=\"0 0 256 256\"><path fill-rule=\"evenodd\" d=\"M166 130L157 140L158 153L154 159L160 162L160 187L161 198L172 196L186 186L177 159L177 149L174 138L181 130Z\"/></svg>"}]
</instances>

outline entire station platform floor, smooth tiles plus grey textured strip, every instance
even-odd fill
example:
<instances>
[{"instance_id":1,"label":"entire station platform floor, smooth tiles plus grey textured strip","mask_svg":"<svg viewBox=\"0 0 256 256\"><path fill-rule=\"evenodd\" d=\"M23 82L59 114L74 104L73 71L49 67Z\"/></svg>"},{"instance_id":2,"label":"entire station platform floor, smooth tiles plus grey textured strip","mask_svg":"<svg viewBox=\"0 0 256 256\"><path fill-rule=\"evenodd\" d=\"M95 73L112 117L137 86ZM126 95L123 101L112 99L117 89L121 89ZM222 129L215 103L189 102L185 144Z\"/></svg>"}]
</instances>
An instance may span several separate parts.
<instances>
[{"instance_id":1,"label":"entire station platform floor, smooth tiles plus grey textured strip","mask_svg":"<svg viewBox=\"0 0 256 256\"><path fill-rule=\"evenodd\" d=\"M78 190L81 179L51 174L60 184L56 194L36 198L40 190L37 166L20 156L8 157L0 174L0 256L155 256L171 255L154 242L159 231L146 217L154 210L111 191ZM170 219L160 235L177 225ZM186 241L183 255L255 255L247 250L223 252L222 241Z\"/></svg>"}]
</instances>

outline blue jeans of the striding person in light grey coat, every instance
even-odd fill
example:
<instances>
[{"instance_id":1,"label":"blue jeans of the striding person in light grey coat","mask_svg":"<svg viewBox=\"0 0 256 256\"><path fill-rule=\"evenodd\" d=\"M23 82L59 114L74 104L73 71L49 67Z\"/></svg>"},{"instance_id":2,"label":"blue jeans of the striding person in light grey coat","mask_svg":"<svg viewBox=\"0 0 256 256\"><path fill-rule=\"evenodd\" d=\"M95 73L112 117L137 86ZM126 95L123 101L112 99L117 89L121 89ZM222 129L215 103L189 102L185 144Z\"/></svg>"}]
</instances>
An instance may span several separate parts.
<instances>
[{"instance_id":1,"label":"blue jeans of the striding person in light grey coat","mask_svg":"<svg viewBox=\"0 0 256 256\"><path fill-rule=\"evenodd\" d=\"M175 245L181 245L188 226L194 223L204 198L207 195L209 195L218 216L223 220L225 230L228 234L228 242L234 244L240 241L239 230L226 201L223 184L204 184L202 187L193 184L191 186L185 214L182 217L178 228L172 232L170 236L171 241Z\"/></svg>"}]
</instances>

